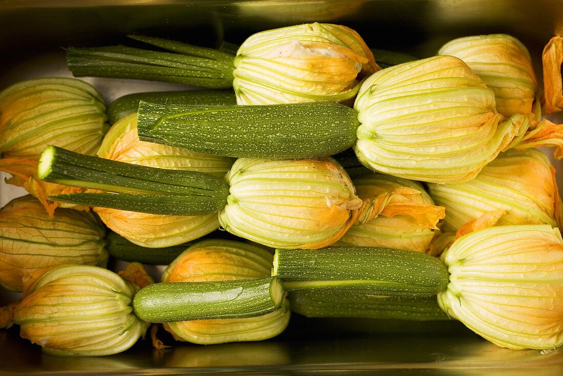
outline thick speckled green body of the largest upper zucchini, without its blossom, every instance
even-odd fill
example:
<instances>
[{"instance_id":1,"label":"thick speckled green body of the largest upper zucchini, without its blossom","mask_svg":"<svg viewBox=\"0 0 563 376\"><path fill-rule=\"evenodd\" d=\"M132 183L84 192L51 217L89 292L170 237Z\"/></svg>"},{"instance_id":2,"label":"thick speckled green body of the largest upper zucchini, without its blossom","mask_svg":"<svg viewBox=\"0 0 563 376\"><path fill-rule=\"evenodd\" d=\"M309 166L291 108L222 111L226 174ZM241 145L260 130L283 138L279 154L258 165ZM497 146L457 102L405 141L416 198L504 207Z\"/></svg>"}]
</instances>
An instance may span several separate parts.
<instances>
[{"instance_id":1,"label":"thick speckled green body of the largest upper zucchini, without its blossom","mask_svg":"<svg viewBox=\"0 0 563 376\"><path fill-rule=\"evenodd\" d=\"M360 123L345 105L295 103L201 107L139 103L142 141L226 157L298 159L350 148Z\"/></svg>"}]
</instances>

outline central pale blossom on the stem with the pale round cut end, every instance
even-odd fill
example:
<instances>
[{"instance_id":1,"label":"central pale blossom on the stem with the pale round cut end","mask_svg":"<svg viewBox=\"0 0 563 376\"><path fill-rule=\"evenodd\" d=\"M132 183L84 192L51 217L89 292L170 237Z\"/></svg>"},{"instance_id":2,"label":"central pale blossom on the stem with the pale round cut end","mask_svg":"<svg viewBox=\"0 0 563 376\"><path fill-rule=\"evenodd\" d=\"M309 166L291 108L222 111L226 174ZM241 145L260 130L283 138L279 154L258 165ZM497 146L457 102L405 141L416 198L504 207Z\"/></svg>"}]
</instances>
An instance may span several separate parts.
<instances>
[{"instance_id":1,"label":"central pale blossom on the stem with the pale round cut end","mask_svg":"<svg viewBox=\"0 0 563 376\"><path fill-rule=\"evenodd\" d=\"M221 226L274 248L317 249L336 242L363 202L346 171L330 157L270 161L240 158L226 176Z\"/></svg>"}]
</instances>

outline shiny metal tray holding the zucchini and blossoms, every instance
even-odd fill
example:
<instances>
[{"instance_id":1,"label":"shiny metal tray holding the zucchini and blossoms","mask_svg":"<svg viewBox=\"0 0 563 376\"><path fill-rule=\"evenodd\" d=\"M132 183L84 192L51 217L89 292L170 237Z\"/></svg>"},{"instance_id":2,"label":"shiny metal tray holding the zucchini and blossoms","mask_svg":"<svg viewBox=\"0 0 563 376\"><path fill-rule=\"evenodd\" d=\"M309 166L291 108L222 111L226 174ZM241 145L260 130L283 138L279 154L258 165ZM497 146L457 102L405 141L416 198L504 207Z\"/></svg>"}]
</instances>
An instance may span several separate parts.
<instances>
[{"instance_id":1,"label":"shiny metal tray holding the zucchini and blossoms","mask_svg":"<svg viewBox=\"0 0 563 376\"><path fill-rule=\"evenodd\" d=\"M217 46L224 39L240 43L253 32L312 21L351 26L369 46L419 57L434 55L455 37L508 33L529 48L540 76L544 43L554 33L563 34L563 2L0 0L0 90L22 79L70 77L65 46L124 43L129 33ZM134 80L85 81L108 101L129 92L184 88ZM25 194L6 185L2 175L0 179L0 206ZM17 298L0 289L0 305ZM0 330L0 375L563 374L563 351L499 348L454 321L311 320L293 315L282 335L263 342L198 346L164 339L173 348L153 350L144 340L118 355L65 358L44 355L19 338L15 326Z\"/></svg>"}]
</instances>

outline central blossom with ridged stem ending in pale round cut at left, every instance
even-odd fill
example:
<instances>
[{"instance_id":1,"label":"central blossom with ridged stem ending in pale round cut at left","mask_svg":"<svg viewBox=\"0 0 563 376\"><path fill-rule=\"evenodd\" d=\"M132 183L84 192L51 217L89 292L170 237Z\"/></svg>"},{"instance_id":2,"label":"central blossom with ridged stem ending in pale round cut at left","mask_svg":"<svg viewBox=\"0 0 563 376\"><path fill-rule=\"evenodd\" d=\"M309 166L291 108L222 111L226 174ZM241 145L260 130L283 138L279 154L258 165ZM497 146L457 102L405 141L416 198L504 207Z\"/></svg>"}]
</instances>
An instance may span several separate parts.
<instances>
[{"instance_id":1,"label":"central blossom with ridged stem ending in pale round cut at left","mask_svg":"<svg viewBox=\"0 0 563 376\"><path fill-rule=\"evenodd\" d=\"M358 198L346 171L329 157L240 158L224 180L203 172L136 166L48 147L39 173L50 182L106 192L57 200L153 214L218 213L227 231L271 247L330 245L351 225L377 215L386 202L385 196Z\"/></svg>"}]
</instances>

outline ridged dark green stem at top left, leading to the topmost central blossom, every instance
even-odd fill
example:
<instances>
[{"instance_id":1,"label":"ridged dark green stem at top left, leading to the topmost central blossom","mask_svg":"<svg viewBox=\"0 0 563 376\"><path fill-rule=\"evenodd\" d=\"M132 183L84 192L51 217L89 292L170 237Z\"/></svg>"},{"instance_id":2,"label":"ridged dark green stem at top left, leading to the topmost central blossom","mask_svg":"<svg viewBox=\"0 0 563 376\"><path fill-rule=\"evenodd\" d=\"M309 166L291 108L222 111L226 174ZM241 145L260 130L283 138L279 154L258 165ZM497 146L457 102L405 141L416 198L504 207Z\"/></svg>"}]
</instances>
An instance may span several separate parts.
<instances>
[{"instance_id":1,"label":"ridged dark green stem at top left, leading to the topmost central blossom","mask_svg":"<svg viewBox=\"0 0 563 376\"><path fill-rule=\"evenodd\" d=\"M136 78L229 89L234 56L213 48L168 39L129 36L169 52L109 46L66 49L66 64L75 77Z\"/></svg>"}]
</instances>

